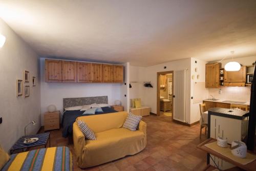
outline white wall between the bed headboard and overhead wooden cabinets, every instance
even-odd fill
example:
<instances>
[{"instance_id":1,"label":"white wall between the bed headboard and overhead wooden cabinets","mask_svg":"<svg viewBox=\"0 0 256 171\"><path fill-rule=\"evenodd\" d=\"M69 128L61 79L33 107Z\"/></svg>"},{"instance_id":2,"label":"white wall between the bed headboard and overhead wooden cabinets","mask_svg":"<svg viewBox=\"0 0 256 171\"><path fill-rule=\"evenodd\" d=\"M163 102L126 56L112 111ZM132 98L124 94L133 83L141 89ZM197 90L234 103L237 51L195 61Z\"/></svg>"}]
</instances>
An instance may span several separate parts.
<instances>
[{"instance_id":1,"label":"white wall between the bed headboard and overhead wooden cabinets","mask_svg":"<svg viewBox=\"0 0 256 171\"><path fill-rule=\"evenodd\" d=\"M121 83L69 83L45 82L45 58L40 58L41 77L41 124L44 125L44 113L50 104L63 112L63 98L108 96L109 104L120 100Z\"/></svg>"}]
</instances>

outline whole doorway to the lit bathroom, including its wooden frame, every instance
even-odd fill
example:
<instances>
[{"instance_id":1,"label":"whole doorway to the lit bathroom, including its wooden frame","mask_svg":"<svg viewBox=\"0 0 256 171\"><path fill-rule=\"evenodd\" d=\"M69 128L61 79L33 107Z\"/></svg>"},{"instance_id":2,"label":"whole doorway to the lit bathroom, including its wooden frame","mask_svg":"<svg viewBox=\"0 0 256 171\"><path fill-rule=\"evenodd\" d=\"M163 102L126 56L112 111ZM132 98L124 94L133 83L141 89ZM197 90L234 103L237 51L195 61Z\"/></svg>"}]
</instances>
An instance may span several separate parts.
<instances>
[{"instance_id":1,"label":"whole doorway to the lit bathroom, including its wooden frame","mask_svg":"<svg viewBox=\"0 0 256 171\"><path fill-rule=\"evenodd\" d=\"M157 73L157 116L173 119L173 77L174 71Z\"/></svg>"}]
</instances>

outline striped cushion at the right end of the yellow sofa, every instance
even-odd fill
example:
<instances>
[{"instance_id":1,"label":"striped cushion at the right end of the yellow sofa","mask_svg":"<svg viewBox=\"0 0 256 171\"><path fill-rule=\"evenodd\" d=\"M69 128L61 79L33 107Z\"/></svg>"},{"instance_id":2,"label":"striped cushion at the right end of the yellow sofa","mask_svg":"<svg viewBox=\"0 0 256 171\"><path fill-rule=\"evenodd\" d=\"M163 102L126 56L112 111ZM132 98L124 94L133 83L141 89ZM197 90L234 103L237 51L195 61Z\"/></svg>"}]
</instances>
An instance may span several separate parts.
<instances>
[{"instance_id":1,"label":"striped cushion at the right end of the yellow sofa","mask_svg":"<svg viewBox=\"0 0 256 171\"><path fill-rule=\"evenodd\" d=\"M131 131L136 131L141 118L142 116L137 116L129 113L123 124L123 127Z\"/></svg>"}]
</instances>

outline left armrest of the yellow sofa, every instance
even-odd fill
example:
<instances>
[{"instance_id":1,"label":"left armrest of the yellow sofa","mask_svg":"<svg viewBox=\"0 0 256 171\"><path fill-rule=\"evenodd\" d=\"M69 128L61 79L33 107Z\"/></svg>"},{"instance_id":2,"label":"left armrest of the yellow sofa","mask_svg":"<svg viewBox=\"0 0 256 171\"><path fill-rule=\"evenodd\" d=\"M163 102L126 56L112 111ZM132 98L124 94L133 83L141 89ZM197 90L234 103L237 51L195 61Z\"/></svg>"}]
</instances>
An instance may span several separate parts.
<instances>
[{"instance_id":1,"label":"left armrest of the yellow sofa","mask_svg":"<svg viewBox=\"0 0 256 171\"><path fill-rule=\"evenodd\" d=\"M86 138L84 137L83 133L80 131L76 122L73 123L73 142L74 142L74 149L77 158L77 162L82 162L82 154L83 154L83 147L86 145Z\"/></svg>"}]
</instances>

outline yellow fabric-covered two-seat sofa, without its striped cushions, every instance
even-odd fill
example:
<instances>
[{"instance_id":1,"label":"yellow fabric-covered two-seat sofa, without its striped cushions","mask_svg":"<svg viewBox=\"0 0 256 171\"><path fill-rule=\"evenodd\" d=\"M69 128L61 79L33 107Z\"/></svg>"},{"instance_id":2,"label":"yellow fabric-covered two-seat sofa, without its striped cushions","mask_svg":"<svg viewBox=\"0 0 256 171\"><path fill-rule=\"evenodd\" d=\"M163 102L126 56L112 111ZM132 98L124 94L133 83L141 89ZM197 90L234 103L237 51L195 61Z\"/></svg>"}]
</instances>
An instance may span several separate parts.
<instances>
[{"instance_id":1,"label":"yellow fabric-covered two-seat sofa, without its striped cushions","mask_svg":"<svg viewBox=\"0 0 256 171\"><path fill-rule=\"evenodd\" d=\"M146 146L146 123L140 121L137 131L122 128L127 112L81 116L96 140L87 140L73 124L73 141L77 165L81 168L96 166L127 155L134 155Z\"/></svg>"}]
</instances>

